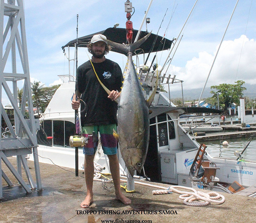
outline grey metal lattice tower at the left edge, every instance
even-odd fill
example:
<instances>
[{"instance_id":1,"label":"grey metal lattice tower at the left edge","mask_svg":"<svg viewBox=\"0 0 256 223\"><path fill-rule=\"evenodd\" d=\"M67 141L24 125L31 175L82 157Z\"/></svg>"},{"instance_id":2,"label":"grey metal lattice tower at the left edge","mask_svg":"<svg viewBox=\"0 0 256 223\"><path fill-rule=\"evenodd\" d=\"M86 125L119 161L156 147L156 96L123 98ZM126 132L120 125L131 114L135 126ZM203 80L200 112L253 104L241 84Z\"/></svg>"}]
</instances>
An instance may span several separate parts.
<instances>
[{"instance_id":1,"label":"grey metal lattice tower at the left edge","mask_svg":"<svg viewBox=\"0 0 256 223\"><path fill-rule=\"evenodd\" d=\"M0 198L3 197L2 178L9 186L13 185L2 170L2 161L10 169L27 193L36 188L28 168L25 156L33 153L37 189L42 189L37 153L36 130L39 120L34 119L28 52L25 33L23 0L0 0L0 94L1 94L1 143L0 143ZM4 28L5 26L5 28ZM17 52L16 52L17 49ZM18 83L23 84L22 100L18 106ZM14 108L14 126L10 122L2 104L3 95L7 95ZM26 114L26 115L25 115ZM25 118L26 116L26 118ZM3 129L2 120L8 129ZM8 137L6 136L8 132ZM7 157L17 157L17 170ZM24 167L27 183L22 178L21 163Z\"/></svg>"}]
</instances>

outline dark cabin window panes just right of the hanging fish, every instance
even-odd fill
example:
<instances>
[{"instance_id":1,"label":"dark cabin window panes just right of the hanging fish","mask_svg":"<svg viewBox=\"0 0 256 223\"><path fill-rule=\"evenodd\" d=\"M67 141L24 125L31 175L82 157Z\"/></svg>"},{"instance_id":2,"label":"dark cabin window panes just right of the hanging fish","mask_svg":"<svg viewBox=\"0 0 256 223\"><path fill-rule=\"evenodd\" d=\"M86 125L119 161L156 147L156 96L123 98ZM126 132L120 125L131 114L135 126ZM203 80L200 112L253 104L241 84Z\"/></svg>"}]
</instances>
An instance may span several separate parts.
<instances>
[{"instance_id":1,"label":"dark cabin window panes just right of the hanging fish","mask_svg":"<svg viewBox=\"0 0 256 223\"><path fill-rule=\"evenodd\" d=\"M157 122L172 120L168 114L163 113L157 116ZM159 146L166 146L168 145L168 131L169 131L169 139L175 139L175 129L174 129L174 122L169 121L168 125L167 122L158 124L158 137L159 137Z\"/></svg>"}]
</instances>

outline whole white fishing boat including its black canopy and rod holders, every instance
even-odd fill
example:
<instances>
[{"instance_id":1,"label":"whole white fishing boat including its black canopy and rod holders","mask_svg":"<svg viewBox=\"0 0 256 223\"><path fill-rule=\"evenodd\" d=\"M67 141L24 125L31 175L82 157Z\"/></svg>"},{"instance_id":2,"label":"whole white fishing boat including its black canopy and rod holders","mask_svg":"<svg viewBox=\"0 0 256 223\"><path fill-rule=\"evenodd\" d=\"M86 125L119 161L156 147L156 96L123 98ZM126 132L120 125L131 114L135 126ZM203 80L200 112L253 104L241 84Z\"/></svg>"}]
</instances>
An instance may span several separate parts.
<instances>
[{"instance_id":1,"label":"whole white fishing boat including its black canopy and rod holders","mask_svg":"<svg viewBox=\"0 0 256 223\"><path fill-rule=\"evenodd\" d=\"M136 34L138 30L134 30ZM105 35L108 40L123 43L126 42L126 30L122 28L108 28L96 34ZM94 34L78 38L78 47L86 47ZM142 32L140 38L146 35ZM124 37L122 39L121 37ZM150 38L142 44L140 49L135 52L137 57L140 53L148 53L150 46L154 42L156 35L152 34ZM162 44L162 37L158 36L153 52L156 52ZM164 38L165 45L162 50L168 50L172 46L173 40ZM70 41L62 47L68 49L66 55L70 55L70 48L74 47L76 40ZM114 51L114 49L113 49ZM70 59L69 63L74 60ZM138 76L142 83L145 98L156 83L156 66L152 69L137 66ZM41 117L41 130L38 131L38 153L42 157L50 158L56 165L63 167L75 167L74 148L70 147L70 136L75 135L74 110L71 108L71 97L75 89L74 75L60 76L63 84L58 88L50 101L46 111ZM66 80L65 80L66 79ZM159 76L160 84L182 83L171 78L168 74ZM178 108L168 99L160 88L156 93L154 102L150 107L150 141L148 153L142 173L137 173L135 177L139 179L150 179L150 181L164 182L186 187L210 188L214 190L224 190L225 186L235 183L235 190L242 187L250 187L256 184L256 163L237 161L236 159L222 159L212 157L206 145L199 145L189 133L180 125L180 115L190 113L208 113L218 115L222 111L210 108L186 107ZM210 117L210 116L209 116ZM84 155L82 148L78 150L79 169L83 169ZM120 173L127 175L124 161L120 152ZM234 157L235 158L235 157ZM51 163L49 159L42 159L40 162ZM95 155L95 162L101 165L102 173L110 173L108 167L108 158L104 155L100 144ZM223 187L224 186L224 187ZM238 188L238 189L237 189ZM231 193L231 192L230 192Z\"/></svg>"}]
</instances>

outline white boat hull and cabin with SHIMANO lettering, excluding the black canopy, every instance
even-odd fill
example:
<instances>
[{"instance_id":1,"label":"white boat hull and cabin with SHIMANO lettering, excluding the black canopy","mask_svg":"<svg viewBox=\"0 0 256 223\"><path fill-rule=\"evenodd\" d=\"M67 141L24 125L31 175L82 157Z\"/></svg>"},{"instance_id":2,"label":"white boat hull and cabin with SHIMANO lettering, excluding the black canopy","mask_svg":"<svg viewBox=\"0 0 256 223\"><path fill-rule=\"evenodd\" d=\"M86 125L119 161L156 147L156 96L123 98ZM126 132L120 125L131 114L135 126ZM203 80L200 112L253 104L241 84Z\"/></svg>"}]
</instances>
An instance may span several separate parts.
<instances>
[{"instance_id":1,"label":"white boat hull and cabin with SHIMANO lettering, excluding the black canopy","mask_svg":"<svg viewBox=\"0 0 256 223\"><path fill-rule=\"evenodd\" d=\"M75 167L74 148L69 146L69 137L74 135L74 111L70 103L74 92L74 82L64 83L54 94L44 115L41 118L41 127L44 132L38 131L38 153L42 157L50 158L56 165L63 167ZM145 174L151 181L160 181L171 184L178 184L187 187L210 187L209 183L204 183L202 179L191 177L190 169L198 152L199 144L192 139L184 127L179 124L179 115L185 110L169 106L168 99L161 93L156 97L155 104L164 102L166 105L155 105L150 107L150 143L148 155L144 164ZM200 108L196 108L198 111ZM193 113L194 110L191 111ZM205 110L203 111L205 112ZM212 110L209 110L212 113ZM41 132L41 134L40 134ZM42 136L44 135L44 140ZM49 138L50 137L50 138ZM126 174L124 163L120 159L120 172ZM32 157L31 157L32 158ZM236 157L230 159L213 158L210 153L204 154L204 161L210 167L217 167L216 177L212 187L217 183L231 185L237 181L243 187L250 187L256 184L256 163L238 162ZM49 159L39 157L40 162L52 163ZM100 149L96 154L95 161L105 167L103 173L110 173L108 159ZM79 164L84 162L82 148L79 149ZM79 165L82 169L82 165ZM140 174L144 177L144 174Z\"/></svg>"}]
</instances>

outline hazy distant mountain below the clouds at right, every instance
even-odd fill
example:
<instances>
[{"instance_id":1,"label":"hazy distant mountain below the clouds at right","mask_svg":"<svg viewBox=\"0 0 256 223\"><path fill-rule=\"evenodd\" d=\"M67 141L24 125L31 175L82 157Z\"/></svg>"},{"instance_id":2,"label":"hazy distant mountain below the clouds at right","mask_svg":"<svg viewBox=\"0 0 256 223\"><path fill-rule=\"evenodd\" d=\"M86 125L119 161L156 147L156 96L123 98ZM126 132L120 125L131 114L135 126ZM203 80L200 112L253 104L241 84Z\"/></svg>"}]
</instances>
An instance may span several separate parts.
<instances>
[{"instance_id":1,"label":"hazy distant mountain below the clouds at right","mask_svg":"<svg viewBox=\"0 0 256 223\"><path fill-rule=\"evenodd\" d=\"M246 91L244 91L244 96L247 96L248 98L256 98L256 84L244 84L244 87L246 88ZM202 98L210 98L212 97L212 94L210 94L211 88L205 88L204 94L202 95ZM193 101L198 100L200 97L200 94L202 92L202 88L196 88L192 90L184 90L183 89L183 96L185 101ZM169 93L164 93L167 98L169 98ZM175 91L170 92L170 98L182 98L182 92L181 91Z\"/></svg>"}]
</instances>

